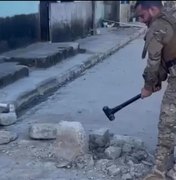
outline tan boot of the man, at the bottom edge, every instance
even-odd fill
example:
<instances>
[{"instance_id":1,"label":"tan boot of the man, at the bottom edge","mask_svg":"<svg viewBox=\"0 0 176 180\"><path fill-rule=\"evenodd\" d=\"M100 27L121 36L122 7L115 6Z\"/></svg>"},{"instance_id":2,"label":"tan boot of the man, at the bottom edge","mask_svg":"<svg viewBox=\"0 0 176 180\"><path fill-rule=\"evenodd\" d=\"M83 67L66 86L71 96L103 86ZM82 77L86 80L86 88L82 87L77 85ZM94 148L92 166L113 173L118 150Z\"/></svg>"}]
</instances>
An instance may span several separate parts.
<instances>
[{"instance_id":1,"label":"tan boot of the man, at the bottom edge","mask_svg":"<svg viewBox=\"0 0 176 180\"><path fill-rule=\"evenodd\" d=\"M145 176L143 180L166 180L165 172L153 169L153 171Z\"/></svg>"}]
</instances>

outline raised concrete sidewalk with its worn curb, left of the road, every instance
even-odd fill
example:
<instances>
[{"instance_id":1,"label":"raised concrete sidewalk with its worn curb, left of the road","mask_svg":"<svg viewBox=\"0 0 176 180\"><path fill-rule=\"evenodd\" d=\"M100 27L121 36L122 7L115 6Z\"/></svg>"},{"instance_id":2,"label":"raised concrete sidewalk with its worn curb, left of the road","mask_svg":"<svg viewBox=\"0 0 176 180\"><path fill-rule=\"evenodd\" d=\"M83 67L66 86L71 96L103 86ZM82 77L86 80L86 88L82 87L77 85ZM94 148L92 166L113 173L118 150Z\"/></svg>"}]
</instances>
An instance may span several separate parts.
<instances>
[{"instance_id":1,"label":"raised concrete sidewalk with its worn curb, left of the road","mask_svg":"<svg viewBox=\"0 0 176 180\"><path fill-rule=\"evenodd\" d=\"M20 114L136 39L145 30L145 27L102 28L99 35L79 39L76 42L81 49L85 49L84 53L78 53L46 69L30 69L28 77L0 89L0 102L14 104L16 112Z\"/></svg>"}]
</instances>

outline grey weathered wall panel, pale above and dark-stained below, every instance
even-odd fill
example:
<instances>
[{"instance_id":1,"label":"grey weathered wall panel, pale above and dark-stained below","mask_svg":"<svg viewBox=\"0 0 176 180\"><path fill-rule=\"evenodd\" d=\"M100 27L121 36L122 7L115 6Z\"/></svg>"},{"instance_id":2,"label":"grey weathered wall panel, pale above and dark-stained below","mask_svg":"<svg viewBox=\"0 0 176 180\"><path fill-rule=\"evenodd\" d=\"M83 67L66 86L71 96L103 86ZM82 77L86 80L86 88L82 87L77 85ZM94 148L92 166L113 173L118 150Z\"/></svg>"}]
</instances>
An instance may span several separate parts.
<instances>
[{"instance_id":1,"label":"grey weathered wall panel, pale above and dark-stained below","mask_svg":"<svg viewBox=\"0 0 176 180\"><path fill-rule=\"evenodd\" d=\"M91 1L51 3L51 41L71 41L86 36L92 28L92 19Z\"/></svg>"}]
</instances>

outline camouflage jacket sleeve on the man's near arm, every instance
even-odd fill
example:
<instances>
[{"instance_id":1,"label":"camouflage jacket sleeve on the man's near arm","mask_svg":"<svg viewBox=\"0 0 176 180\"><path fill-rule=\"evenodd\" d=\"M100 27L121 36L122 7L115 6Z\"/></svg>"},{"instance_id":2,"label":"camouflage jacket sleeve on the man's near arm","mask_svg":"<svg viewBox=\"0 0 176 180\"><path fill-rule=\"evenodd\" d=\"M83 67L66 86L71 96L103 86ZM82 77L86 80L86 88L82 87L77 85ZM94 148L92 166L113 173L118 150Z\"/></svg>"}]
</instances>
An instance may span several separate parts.
<instances>
[{"instance_id":1,"label":"camouflage jacket sleeve on the man's near arm","mask_svg":"<svg viewBox=\"0 0 176 180\"><path fill-rule=\"evenodd\" d=\"M161 84L159 76L162 66L162 49L171 38L171 30L172 27L169 24L159 21L151 27L146 37L148 59L143 72L145 89L153 91L153 87Z\"/></svg>"}]
</instances>

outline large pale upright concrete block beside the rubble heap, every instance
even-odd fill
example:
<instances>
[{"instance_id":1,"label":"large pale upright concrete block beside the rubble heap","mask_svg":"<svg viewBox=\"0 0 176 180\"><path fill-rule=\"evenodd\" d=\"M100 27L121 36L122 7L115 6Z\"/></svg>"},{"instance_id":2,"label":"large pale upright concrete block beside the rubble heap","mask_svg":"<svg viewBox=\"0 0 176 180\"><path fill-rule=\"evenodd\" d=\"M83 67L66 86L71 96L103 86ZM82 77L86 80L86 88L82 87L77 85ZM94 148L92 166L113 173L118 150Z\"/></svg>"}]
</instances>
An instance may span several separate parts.
<instances>
[{"instance_id":1,"label":"large pale upright concrete block beside the rubble heap","mask_svg":"<svg viewBox=\"0 0 176 180\"><path fill-rule=\"evenodd\" d=\"M55 155L57 160L74 161L88 152L88 137L80 122L61 121L57 127Z\"/></svg>"}]
</instances>

